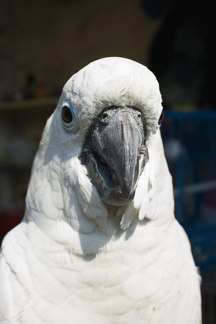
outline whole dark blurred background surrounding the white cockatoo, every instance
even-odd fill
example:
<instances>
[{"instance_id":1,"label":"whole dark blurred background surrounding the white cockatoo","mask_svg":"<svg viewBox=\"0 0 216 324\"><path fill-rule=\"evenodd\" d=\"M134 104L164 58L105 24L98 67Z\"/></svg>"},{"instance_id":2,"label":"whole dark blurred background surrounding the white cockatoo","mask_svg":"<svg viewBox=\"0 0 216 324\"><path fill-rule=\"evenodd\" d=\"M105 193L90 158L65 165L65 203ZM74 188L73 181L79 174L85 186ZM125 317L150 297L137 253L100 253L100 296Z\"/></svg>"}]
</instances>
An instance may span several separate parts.
<instances>
[{"instance_id":1,"label":"whole dark blurred background surrounding the white cockatoo","mask_svg":"<svg viewBox=\"0 0 216 324\"><path fill-rule=\"evenodd\" d=\"M203 277L203 323L216 323L214 1L0 1L0 239L22 219L31 164L65 82L121 56L156 75L176 218Z\"/></svg>"}]
</instances>

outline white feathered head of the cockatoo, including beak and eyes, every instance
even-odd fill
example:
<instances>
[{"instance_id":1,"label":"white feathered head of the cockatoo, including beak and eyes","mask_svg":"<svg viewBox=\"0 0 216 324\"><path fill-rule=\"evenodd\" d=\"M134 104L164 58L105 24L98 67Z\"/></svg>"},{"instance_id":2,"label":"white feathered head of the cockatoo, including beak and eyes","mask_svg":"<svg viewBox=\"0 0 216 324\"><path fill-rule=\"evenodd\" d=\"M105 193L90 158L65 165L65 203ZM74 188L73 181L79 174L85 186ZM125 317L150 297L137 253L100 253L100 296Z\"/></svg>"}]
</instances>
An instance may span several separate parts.
<instances>
[{"instance_id":1,"label":"white feathered head of the cockatoo, including beak and eyes","mask_svg":"<svg viewBox=\"0 0 216 324\"><path fill-rule=\"evenodd\" d=\"M130 205L144 218L165 159L161 102L153 73L125 58L97 60L68 80L33 166L46 181L40 190L51 188L60 214L70 221L80 214L102 226L107 205L120 206L124 215ZM50 206L44 213L52 213Z\"/></svg>"}]
</instances>

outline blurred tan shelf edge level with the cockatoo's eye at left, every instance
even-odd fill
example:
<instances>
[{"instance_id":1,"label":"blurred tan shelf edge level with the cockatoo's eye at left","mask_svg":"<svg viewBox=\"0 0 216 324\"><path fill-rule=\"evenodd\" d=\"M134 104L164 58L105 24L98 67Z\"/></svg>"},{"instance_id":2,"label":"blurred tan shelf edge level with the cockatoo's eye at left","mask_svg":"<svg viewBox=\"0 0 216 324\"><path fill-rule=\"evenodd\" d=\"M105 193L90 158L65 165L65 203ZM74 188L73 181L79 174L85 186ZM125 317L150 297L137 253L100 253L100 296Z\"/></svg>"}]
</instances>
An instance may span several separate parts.
<instances>
[{"instance_id":1,"label":"blurred tan shelf edge level with the cockatoo's eye at left","mask_svg":"<svg viewBox=\"0 0 216 324\"><path fill-rule=\"evenodd\" d=\"M4 110L18 110L18 109L32 109L32 108L42 108L42 107L55 107L58 103L57 97L48 97L40 99L26 99L18 101L2 101L0 102L0 111Z\"/></svg>"}]
</instances>

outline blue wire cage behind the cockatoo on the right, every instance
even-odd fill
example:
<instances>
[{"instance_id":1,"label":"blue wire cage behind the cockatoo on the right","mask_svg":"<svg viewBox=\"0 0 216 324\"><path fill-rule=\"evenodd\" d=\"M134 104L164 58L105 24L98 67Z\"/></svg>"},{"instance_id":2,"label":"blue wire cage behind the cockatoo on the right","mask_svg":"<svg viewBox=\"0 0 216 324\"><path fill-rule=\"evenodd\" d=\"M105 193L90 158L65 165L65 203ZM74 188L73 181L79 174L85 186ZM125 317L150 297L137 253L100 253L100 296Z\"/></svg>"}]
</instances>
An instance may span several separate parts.
<instances>
[{"instance_id":1,"label":"blue wire cage behind the cockatoo on the right","mask_svg":"<svg viewBox=\"0 0 216 324\"><path fill-rule=\"evenodd\" d=\"M201 273L216 266L216 112L165 111L161 126L175 215Z\"/></svg>"}]
</instances>

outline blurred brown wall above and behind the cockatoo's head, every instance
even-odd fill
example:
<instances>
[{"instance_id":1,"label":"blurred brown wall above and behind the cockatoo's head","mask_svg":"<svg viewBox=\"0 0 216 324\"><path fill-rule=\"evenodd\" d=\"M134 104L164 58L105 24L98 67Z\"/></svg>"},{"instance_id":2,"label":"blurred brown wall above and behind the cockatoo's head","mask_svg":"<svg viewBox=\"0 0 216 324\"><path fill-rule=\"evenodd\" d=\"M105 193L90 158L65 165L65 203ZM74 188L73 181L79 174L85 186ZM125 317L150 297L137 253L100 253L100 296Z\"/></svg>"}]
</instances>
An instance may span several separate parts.
<instances>
[{"instance_id":1,"label":"blurred brown wall above and behind the cockatoo's head","mask_svg":"<svg viewBox=\"0 0 216 324\"><path fill-rule=\"evenodd\" d=\"M3 92L21 91L31 72L51 94L83 66L107 56L147 65L150 45L162 22L161 17L148 17L138 0L11 0L4 7L14 80L8 85L7 76Z\"/></svg>"}]
</instances>

